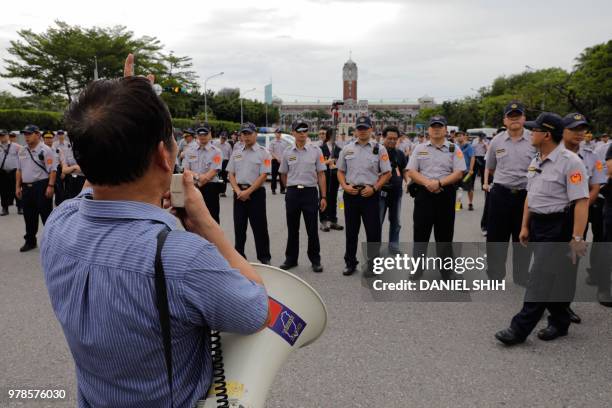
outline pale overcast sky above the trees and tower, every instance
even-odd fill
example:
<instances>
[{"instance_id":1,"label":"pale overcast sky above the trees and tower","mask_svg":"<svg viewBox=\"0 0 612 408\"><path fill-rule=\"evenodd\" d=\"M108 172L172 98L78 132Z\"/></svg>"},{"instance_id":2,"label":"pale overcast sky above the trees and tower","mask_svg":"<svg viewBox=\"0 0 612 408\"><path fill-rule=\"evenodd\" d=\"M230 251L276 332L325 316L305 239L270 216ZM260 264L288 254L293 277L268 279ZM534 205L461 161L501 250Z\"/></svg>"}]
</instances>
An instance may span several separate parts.
<instances>
[{"instance_id":1,"label":"pale overcast sky above the trees and tower","mask_svg":"<svg viewBox=\"0 0 612 408\"><path fill-rule=\"evenodd\" d=\"M211 89L255 87L248 96L263 99L271 79L285 101L341 97L350 51L360 99L440 101L525 65L571 69L585 47L612 39L610 0L20 0L2 2L0 58L17 30L43 31L57 19L125 25L192 57L202 82L225 71ZM4 78L1 90L16 92Z\"/></svg>"}]
</instances>

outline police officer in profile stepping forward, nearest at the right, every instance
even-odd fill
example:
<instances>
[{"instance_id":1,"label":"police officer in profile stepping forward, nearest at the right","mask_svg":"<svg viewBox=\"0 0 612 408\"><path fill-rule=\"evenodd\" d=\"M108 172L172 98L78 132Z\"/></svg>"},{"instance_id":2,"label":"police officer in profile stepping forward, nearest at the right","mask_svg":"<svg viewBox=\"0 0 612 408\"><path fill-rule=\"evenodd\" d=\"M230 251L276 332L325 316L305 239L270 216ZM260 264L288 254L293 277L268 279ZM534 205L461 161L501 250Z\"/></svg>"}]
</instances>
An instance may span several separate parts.
<instances>
[{"instance_id":1,"label":"police officer in profile stepping forward, nearest at the right","mask_svg":"<svg viewBox=\"0 0 612 408\"><path fill-rule=\"evenodd\" d=\"M527 198L520 232L522 244L535 243L523 308L510 327L495 334L506 345L525 341L548 309L548 327L541 340L565 336L570 326L569 303L576 286L576 263L586 253L582 238L589 207L588 175L582 160L565 149L563 120L544 112L525 127L532 130L538 154L528 167ZM569 243L568 248L561 243Z\"/></svg>"}]
</instances>

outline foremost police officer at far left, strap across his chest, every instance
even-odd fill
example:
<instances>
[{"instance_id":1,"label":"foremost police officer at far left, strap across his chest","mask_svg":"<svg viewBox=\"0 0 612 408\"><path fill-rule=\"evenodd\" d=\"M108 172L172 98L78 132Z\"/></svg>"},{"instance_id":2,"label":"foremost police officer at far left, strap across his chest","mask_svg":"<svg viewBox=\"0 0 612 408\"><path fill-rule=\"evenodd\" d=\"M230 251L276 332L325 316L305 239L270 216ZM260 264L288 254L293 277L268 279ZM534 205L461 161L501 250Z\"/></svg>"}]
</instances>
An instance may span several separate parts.
<instances>
[{"instance_id":1,"label":"foremost police officer at far left, strap across his chest","mask_svg":"<svg viewBox=\"0 0 612 408\"><path fill-rule=\"evenodd\" d=\"M40 141L38 126L28 125L22 131L26 146L19 150L15 196L23 199L26 226L21 252L36 248L38 217L43 225L53 208L53 190L57 176L53 150Z\"/></svg>"}]
</instances>

